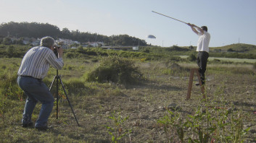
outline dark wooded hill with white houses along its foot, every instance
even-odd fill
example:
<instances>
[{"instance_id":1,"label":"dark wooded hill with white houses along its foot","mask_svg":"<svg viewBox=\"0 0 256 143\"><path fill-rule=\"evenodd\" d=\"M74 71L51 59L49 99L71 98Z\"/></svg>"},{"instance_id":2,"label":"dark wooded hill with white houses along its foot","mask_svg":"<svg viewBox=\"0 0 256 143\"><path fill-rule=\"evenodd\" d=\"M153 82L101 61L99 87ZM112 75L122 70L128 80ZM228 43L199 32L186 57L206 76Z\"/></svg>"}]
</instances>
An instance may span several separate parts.
<instances>
[{"instance_id":1,"label":"dark wooded hill with white houses along its foot","mask_svg":"<svg viewBox=\"0 0 256 143\"><path fill-rule=\"evenodd\" d=\"M49 23L38 22L8 22L0 24L0 43L4 38L65 38L77 40L80 43L103 42L105 45L147 45L145 40L131 37L129 35L99 35L91 32L80 32L79 30L68 30L66 27L59 30L59 27Z\"/></svg>"}]
</instances>

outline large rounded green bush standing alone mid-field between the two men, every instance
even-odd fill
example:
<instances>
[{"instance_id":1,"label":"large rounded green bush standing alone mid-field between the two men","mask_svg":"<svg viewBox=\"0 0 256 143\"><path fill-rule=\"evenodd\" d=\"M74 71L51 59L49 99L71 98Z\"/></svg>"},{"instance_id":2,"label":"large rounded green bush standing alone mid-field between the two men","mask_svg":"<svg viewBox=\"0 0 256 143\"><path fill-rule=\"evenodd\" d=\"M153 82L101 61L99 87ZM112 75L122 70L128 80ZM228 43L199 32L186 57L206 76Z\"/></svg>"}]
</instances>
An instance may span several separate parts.
<instances>
[{"instance_id":1,"label":"large rounded green bush standing alone mid-field between the two men","mask_svg":"<svg viewBox=\"0 0 256 143\"><path fill-rule=\"evenodd\" d=\"M86 74L89 82L115 82L121 84L132 84L138 82L142 74L138 71L133 61L118 56L102 58L96 69Z\"/></svg>"}]
</instances>

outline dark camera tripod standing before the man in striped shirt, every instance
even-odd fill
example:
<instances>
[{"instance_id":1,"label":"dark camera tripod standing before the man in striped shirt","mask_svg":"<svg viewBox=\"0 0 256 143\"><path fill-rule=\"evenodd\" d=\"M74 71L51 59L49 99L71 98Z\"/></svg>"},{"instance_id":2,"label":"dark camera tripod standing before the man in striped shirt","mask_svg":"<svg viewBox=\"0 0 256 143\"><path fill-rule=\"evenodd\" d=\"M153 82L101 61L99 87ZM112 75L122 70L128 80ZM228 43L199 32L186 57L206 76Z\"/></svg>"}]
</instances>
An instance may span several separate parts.
<instances>
[{"instance_id":1,"label":"dark camera tripod standing before the man in striped shirt","mask_svg":"<svg viewBox=\"0 0 256 143\"><path fill-rule=\"evenodd\" d=\"M64 85L63 85L63 83L62 83L62 79L61 79L60 76L59 76L59 71L58 71L58 69L57 69L57 74L56 74L56 76L54 77L54 79L53 79L52 82L51 82L51 87L52 87L52 85L54 84L55 79L57 79L57 81L56 81L56 97L57 97L57 103L56 103L56 108L57 108L56 111L57 111L57 114L56 114L56 118L58 119L58 109L59 109L59 107L58 107L58 102L59 102L59 95L58 95L58 93L59 93L59 81L60 81L60 83L62 84L62 89L64 90L66 97L67 97L67 92L66 92L65 87L64 87ZM50 87L50 90L51 90L51 87ZM67 97L67 101L68 101L68 103L70 104L70 108L71 108L71 110L72 110L72 112L73 112L73 115L74 115L74 117L75 117L75 112L74 112L74 110L73 110L73 108L72 108L72 105L71 105L70 100L68 99L68 97ZM78 123L78 120L77 120L76 117L75 117L75 121L76 121L76 123ZM79 123L78 123L78 126L80 126Z\"/></svg>"}]
</instances>

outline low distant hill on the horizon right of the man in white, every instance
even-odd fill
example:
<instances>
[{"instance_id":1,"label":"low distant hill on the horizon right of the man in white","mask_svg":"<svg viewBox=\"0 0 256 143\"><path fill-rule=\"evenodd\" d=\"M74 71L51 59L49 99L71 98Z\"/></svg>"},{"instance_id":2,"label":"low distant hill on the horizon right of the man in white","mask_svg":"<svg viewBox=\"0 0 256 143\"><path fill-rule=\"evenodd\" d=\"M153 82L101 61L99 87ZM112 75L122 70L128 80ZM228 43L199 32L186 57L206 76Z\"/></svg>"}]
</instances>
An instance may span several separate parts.
<instances>
[{"instance_id":1,"label":"low distant hill on the horizon right of the man in white","mask_svg":"<svg viewBox=\"0 0 256 143\"><path fill-rule=\"evenodd\" d=\"M244 43L236 43L231 45L225 45L223 47L212 47L212 51L229 51L229 52L244 52L244 53L256 53L256 45L249 45Z\"/></svg>"}]
</instances>

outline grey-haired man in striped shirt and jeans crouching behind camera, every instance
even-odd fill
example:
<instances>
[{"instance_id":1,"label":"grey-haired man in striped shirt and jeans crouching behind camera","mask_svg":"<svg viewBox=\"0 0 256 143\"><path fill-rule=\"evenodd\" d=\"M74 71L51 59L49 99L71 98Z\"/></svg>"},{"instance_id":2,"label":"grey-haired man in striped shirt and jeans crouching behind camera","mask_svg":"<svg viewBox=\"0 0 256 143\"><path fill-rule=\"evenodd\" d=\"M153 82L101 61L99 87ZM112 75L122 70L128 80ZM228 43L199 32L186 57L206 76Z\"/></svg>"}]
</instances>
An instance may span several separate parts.
<instances>
[{"instance_id":1,"label":"grey-haired man in striped shirt and jeans crouching behind camera","mask_svg":"<svg viewBox=\"0 0 256 143\"><path fill-rule=\"evenodd\" d=\"M31 48L22 59L17 73L19 76L17 83L28 96L22 116L22 127L33 126L31 116L36 103L40 101L42 106L35 128L38 130L48 129L47 121L54 106L54 97L42 79L46 77L50 65L55 69L62 69L64 66L62 48L55 48L58 57L54 54L54 48L53 38L42 38L41 46Z\"/></svg>"}]
</instances>

